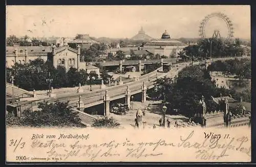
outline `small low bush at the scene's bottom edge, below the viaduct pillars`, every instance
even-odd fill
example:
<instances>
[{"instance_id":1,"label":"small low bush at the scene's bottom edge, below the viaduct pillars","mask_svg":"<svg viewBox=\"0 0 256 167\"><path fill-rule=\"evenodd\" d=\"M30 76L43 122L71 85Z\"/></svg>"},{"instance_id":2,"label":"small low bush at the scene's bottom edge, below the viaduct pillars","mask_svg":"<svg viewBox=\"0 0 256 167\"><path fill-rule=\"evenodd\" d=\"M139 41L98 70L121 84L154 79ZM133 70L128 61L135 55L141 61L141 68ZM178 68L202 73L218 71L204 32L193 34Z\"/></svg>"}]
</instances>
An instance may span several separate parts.
<instances>
[{"instance_id":1,"label":"small low bush at the scene's bottom edge, below the viaduct pillars","mask_svg":"<svg viewBox=\"0 0 256 167\"><path fill-rule=\"evenodd\" d=\"M120 123L116 122L113 118L102 118L99 120L95 120L93 127L99 127L99 128L115 128L119 127Z\"/></svg>"}]
</instances>

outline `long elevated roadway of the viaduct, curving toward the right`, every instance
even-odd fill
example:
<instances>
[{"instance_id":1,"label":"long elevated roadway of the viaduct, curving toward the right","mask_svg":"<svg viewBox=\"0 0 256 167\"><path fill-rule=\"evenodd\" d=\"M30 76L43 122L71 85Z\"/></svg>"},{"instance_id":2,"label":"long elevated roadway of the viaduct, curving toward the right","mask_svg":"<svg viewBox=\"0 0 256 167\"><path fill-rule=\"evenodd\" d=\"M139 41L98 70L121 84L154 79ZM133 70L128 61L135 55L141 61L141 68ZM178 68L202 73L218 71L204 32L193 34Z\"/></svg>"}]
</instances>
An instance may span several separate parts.
<instances>
[{"instance_id":1,"label":"long elevated roadway of the viaduct, curving toward the right","mask_svg":"<svg viewBox=\"0 0 256 167\"><path fill-rule=\"evenodd\" d=\"M214 61L218 60L228 60L228 59L234 59L234 58L216 58ZM204 62L200 62L203 64ZM92 92L84 92L84 93L67 93L67 94L59 94L56 98L47 98L44 99L49 102L53 101L62 101L62 102L67 102L69 101L69 105L72 107L76 107L76 103L78 102L79 96L81 96L81 100L83 101L85 107L90 107L94 106L97 104L103 103L103 96L105 94L105 90L108 90L108 95L111 100L119 99L124 97L124 92L126 90L126 87L129 86L131 90L131 95L134 95L136 93L141 92L141 86L143 85L143 82L145 82L145 85L147 86L148 89L154 87L154 82L156 80L156 75L158 78L160 77L174 77L178 74L179 71L181 71L186 65L188 65L189 62L183 62L178 64L178 68L175 67L170 72L168 73L163 73L163 72L157 72L157 70L142 75L139 77L138 81L132 81L132 82L127 82L126 84L123 85L117 85L113 87L106 87L104 90L96 90ZM161 70L161 67L158 69ZM149 78L149 80L148 80Z\"/></svg>"}]
</instances>

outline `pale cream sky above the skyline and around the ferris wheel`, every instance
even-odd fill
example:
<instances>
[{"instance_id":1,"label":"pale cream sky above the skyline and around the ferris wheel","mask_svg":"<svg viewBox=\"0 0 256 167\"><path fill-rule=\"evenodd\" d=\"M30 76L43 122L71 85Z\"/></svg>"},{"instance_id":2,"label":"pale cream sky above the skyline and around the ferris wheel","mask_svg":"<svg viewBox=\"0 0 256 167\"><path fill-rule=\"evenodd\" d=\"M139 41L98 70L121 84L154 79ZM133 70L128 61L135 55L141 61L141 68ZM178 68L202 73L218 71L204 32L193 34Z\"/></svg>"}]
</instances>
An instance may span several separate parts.
<instances>
[{"instance_id":1,"label":"pale cream sky above the skyline and around the ferris wheel","mask_svg":"<svg viewBox=\"0 0 256 167\"><path fill-rule=\"evenodd\" d=\"M197 38L202 19L213 12L226 14L233 23L234 37L250 39L250 6L7 6L6 35L18 37L132 38L143 27L160 38L166 30L171 38ZM219 30L227 35L225 22L212 17L205 33Z\"/></svg>"}]
</instances>

